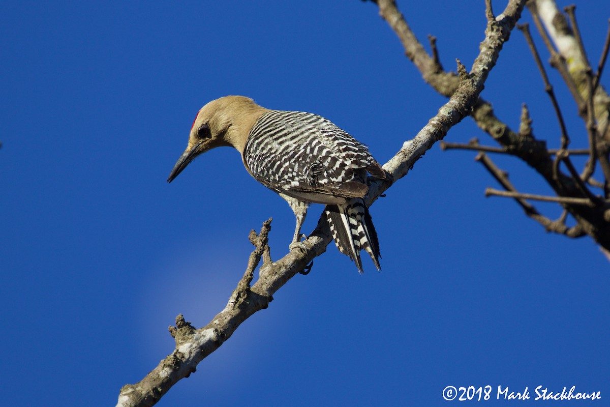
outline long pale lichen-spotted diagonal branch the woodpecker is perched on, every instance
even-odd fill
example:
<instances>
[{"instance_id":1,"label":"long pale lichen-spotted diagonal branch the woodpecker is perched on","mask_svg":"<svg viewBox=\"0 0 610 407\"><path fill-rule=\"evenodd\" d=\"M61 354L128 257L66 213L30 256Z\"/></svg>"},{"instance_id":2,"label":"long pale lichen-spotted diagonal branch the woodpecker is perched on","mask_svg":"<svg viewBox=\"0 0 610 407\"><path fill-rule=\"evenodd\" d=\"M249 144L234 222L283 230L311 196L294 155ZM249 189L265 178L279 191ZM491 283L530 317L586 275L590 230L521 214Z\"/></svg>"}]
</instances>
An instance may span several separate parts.
<instances>
[{"instance_id":1,"label":"long pale lichen-spotted diagonal branch the woodpecker is perched on","mask_svg":"<svg viewBox=\"0 0 610 407\"><path fill-rule=\"evenodd\" d=\"M392 1L379 0L382 5ZM367 203L371 204L389 188L393 182L407 174L415 161L425 154L435 142L445 137L449 129L459 123L472 110L490 70L495 65L498 54L511 30L519 20L525 0L511 0L498 18L489 18L486 37L481 43L481 52L473 63L470 73L464 74L450 100L439 109L428 124L414 139L404 142L398 153L383 167L393 176L393 181L376 181L370 187ZM489 16L488 16L489 17ZM430 59L432 65L434 62ZM268 232L268 230L267 230ZM252 265L265 253L265 226L256 240L257 248L250 258L246 272L234 290L226 307L212 322L200 329L195 329L179 315L176 327L170 328L176 339L176 349L163 359L152 372L137 384L128 384L121 389L117 406L152 406L165 394L173 384L195 371L196 365L212 351L220 347L231 337L237 327L254 312L267 308L273 300L273 294L290 278L326 250L331 242L328 223L320 218L317 228L303 242L303 250L293 250L276 262L264 262L260 275L254 285L251 283ZM263 248L261 249L261 245ZM258 259L257 259L258 258Z\"/></svg>"}]
</instances>

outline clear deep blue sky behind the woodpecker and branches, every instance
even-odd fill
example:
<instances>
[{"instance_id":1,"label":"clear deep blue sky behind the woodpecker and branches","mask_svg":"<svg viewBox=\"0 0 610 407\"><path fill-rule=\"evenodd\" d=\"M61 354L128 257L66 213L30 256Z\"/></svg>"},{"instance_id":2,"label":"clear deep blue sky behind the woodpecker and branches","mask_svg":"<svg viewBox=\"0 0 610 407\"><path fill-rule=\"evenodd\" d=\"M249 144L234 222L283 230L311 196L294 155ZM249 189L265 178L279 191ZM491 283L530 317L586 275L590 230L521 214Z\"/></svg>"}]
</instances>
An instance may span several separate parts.
<instances>
[{"instance_id":1,"label":"clear deep blue sky behind the woodpecker and branches","mask_svg":"<svg viewBox=\"0 0 610 407\"><path fill-rule=\"evenodd\" d=\"M483 1L403 3L420 40L437 36L445 68L470 67ZM597 63L610 4L576 12ZM370 2L4 1L0 55L6 405L113 405L173 350L176 315L199 327L224 308L250 229L273 217L272 257L287 252L292 211L233 149L165 182L207 101L237 94L318 113L381 163L445 103ZM575 104L550 77L583 147ZM558 146L519 32L483 97L512 128L528 104L536 135ZM492 144L469 119L446 140L475 136ZM589 238L547 234L514 201L485 198L498 185L474 156L434 146L371 207L382 272L364 259L358 275L329 246L159 405L450 405L445 386L487 384L610 397L608 260ZM517 189L550 193L526 165L493 159Z\"/></svg>"}]
</instances>

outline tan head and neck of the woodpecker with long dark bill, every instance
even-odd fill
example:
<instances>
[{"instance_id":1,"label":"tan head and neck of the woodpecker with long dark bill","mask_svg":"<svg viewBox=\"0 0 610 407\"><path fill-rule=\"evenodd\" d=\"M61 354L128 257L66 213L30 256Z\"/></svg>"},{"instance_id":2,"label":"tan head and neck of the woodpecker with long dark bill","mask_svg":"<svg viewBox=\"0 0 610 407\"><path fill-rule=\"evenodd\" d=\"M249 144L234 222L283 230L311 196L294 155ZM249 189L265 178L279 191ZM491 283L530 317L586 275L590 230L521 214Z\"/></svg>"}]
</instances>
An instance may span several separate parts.
<instances>
[{"instance_id":1,"label":"tan head and neck of the woodpecker with long dark bill","mask_svg":"<svg viewBox=\"0 0 610 407\"><path fill-rule=\"evenodd\" d=\"M265 111L267 109L244 96L224 96L206 104L197 113L187 148L171 170L167 182L173 181L196 156L209 149L233 146L243 154L250 129Z\"/></svg>"}]
</instances>

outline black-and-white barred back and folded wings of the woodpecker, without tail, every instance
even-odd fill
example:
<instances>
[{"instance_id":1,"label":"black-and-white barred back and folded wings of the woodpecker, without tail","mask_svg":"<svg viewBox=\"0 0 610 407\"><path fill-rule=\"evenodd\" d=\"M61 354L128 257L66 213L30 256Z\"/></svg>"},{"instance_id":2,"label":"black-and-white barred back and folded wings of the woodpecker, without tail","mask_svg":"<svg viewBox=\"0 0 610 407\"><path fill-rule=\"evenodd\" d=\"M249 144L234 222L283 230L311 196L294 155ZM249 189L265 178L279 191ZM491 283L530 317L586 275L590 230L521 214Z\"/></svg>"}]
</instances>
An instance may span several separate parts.
<instances>
[{"instance_id":1,"label":"black-and-white barred back and folded wings of the woodpecker, without tail","mask_svg":"<svg viewBox=\"0 0 610 407\"><path fill-rule=\"evenodd\" d=\"M272 110L262 116L249 134L243 160L270 189L315 203L364 196L367 171L384 174L365 145L305 112Z\"/></svg>"}]
</instances>

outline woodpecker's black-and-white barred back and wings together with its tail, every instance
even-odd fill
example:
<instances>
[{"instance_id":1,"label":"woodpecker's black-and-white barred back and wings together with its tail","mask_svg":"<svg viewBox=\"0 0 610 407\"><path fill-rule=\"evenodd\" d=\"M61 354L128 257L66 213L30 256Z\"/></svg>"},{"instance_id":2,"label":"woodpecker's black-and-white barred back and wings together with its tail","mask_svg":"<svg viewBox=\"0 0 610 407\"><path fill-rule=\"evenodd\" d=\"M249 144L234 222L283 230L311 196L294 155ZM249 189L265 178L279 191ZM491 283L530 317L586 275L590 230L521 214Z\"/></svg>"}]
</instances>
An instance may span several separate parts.
<instances>
[{"instance_id":1,"label":"woodpecker's black-and-white barred back and wings together with its tail","mask_svg":"<svg viewBox=\"0 0 610 407\"><path fill-rule=\"evenodd\" d=\"M251 129L243 151L249 173L268 188L307 203L326 204L337 248L362 272L359 251L379 269L379 243L361 196L367 171L385 174L359 143L313 113L270 110Z\"/></svg>"}]
</instances>

